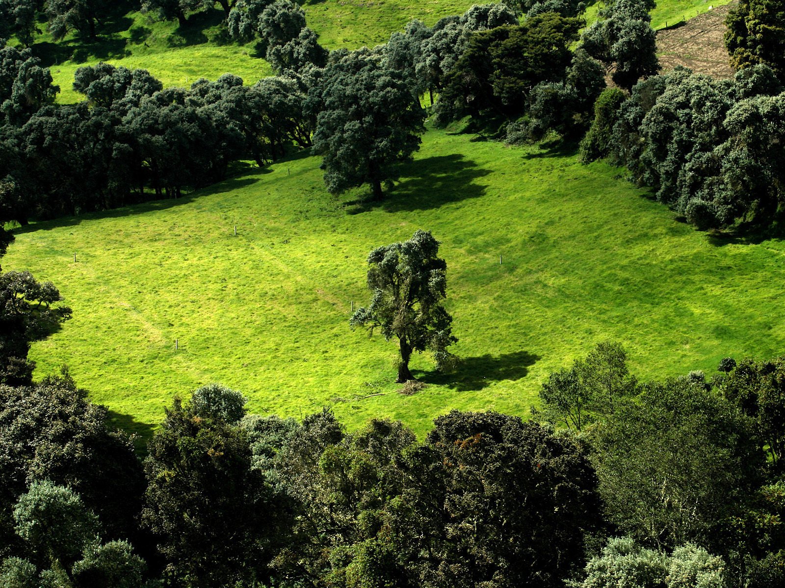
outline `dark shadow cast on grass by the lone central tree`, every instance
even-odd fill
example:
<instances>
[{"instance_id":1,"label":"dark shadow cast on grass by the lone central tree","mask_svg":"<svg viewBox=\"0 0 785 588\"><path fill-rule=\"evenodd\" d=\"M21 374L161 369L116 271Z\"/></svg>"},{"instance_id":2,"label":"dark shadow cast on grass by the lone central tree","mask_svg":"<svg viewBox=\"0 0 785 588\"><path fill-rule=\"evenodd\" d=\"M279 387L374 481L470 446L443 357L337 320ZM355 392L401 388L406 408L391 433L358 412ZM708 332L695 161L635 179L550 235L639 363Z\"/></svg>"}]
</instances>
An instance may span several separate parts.
<instances>
[{"instance_id":1,"label":"dark shadow cast on grass by the lone central tree","mask_svg":"<svg viewBox=\"0 0 785 588\"><path fill-rule=\"evenodd\" d=\"M518 380L526 377L529 368L542 359L528 351L515 351L510 354L480 355L475 358L462 358L454 372L417 372L420 381L440 384L459 391L482 390L491 382Z\"/></svg>"}]
</instances>

